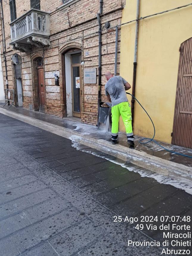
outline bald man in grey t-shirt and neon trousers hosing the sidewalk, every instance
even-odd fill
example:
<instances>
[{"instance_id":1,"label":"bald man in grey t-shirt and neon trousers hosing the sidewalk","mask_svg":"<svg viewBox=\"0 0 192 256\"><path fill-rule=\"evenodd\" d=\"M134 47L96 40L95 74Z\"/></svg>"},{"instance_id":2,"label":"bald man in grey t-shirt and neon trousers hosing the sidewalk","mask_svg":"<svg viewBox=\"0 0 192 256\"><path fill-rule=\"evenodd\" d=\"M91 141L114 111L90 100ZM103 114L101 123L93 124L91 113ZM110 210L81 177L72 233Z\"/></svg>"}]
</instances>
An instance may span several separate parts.
<instances>
[{"instance_id":1,"label":"bald man in grey t-shirt and neon trousers hosing the sidewalk","mask_svg":"<svg viewBox=\"0 0 192 256\"><path fill-rule=\"evenodd\" d=\"M111 72L107 72L105 77L107 79L107 83L105 84L105 94L107 99L111 102L112 143L117 143L119 118L121 115L127 133L127 143L134 146L131 109L125 91L129 90L131 85L129 85L129 83L120 76L113 77Z\"/></svg>"}]
</instances>

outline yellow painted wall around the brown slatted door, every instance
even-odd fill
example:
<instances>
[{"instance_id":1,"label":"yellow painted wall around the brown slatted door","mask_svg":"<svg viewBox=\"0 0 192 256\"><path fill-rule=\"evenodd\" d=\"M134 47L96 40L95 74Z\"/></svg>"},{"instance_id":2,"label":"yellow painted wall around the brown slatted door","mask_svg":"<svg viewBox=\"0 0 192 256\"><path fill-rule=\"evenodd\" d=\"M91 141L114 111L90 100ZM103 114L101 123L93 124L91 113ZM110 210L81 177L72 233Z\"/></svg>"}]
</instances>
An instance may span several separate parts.
<instances>
[{"instance_id":1,"label":"yellow painted wall around the brown slatted door","mask_svg":"<svg viewBox=\"0 0 192 256\"><path fill-rule=\"evenodd\" d=\"M141 0L140 17L190 4L191 0ZM122 22L136 18L136 0L127 0ZM179 47L192 37L192 5L139 21L135 97L154 121L155 139L171 143ZM120 75L132 85L135 22L121 26ZM130 90L131 93L131 90ZM128 97L130 102L130 97ZM134 134L151 137L153 127L135 102ZM120 130L124 125L120 120Z\"/></svg>"}]
</instances>

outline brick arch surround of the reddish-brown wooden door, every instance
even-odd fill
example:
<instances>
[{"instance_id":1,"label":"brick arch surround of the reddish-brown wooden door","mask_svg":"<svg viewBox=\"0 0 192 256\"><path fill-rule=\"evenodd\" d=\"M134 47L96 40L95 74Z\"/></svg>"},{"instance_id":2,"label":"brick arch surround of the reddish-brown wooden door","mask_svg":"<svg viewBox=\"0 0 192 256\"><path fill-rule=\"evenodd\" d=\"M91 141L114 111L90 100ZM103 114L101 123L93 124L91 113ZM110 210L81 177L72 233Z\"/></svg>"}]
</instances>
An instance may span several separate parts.
<instances>
[{"instance_id":1,"label":"brick arch surround of the reddish-brown wooden door","mask_svg":"<svg viewBox=\"0 0 192 256\"><path fill-rule=\"evenodd\" d=\"M32 88L33 88L33 108L35 111L39 110L40 100L39 100L39 88L38 88L38 74L37 74L37 62L38 58L43 58L42 52L36 52L31 55L31 67L32 67ZM44 68L44 58L43 58L43 70ZM45 74L44 74L44 85L45 85ZM46 97L45 97L45 108L46 108Z\"/></svg>"}]
</instances>

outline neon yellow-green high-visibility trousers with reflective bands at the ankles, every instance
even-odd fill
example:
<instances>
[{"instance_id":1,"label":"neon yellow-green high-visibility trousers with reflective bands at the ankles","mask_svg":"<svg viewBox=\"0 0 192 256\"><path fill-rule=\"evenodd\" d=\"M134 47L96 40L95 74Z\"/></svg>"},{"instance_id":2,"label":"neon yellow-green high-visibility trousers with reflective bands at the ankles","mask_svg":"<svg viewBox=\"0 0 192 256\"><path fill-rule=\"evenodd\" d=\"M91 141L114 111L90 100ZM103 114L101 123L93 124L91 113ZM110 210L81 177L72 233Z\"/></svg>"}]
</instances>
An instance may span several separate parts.
<instances>
[{"instance_id":1,"label":"neon yellow-green high-visibility trousers with reflective bands at the ankles","mask_svg":"<svg viewBox=\"0 0 192 256\"><path fill-rule=\"evenodd\" d=\"M131 108L130 108L129 102L121 102L111 108L112 140L117 141L118 132L119 132L120 115L121 115L124 125L125 125L127 140L133 141L134 138L133 138L133 130L132 130L132 117L131 117Z\"/></svg>"}]
</instances>

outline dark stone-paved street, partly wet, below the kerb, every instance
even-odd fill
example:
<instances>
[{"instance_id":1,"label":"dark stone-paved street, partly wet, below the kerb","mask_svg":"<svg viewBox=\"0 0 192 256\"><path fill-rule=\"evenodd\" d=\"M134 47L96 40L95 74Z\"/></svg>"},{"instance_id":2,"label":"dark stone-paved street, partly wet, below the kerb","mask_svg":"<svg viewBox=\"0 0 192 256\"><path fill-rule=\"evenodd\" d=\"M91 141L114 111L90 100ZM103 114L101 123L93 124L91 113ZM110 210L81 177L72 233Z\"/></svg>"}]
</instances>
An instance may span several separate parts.
<instances>
[{"instance_id":1,"label":"dark stone-paved street, partly wet, below the kerb","mask_svg":"<svg viewBox=\"0 0 192 256\"><path fill-rule=\"evenodd\" d=\"M176 223L171 216L180 216L178 225L191 224L185 216L191 216L192 195L142 177L134 168L147 170L134 164L124 168L115 157L79 149L0 114L1 255L161 255L163 247L128 246L128 240L162 243L159 226ZM138 222L114 222L114 216ZM148 230L141 216L157 216L157 230ZM138 223L142 230L135 229Z\"/></svg>"}]
</instances>

